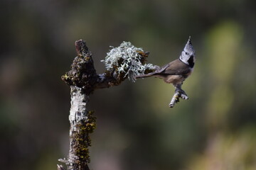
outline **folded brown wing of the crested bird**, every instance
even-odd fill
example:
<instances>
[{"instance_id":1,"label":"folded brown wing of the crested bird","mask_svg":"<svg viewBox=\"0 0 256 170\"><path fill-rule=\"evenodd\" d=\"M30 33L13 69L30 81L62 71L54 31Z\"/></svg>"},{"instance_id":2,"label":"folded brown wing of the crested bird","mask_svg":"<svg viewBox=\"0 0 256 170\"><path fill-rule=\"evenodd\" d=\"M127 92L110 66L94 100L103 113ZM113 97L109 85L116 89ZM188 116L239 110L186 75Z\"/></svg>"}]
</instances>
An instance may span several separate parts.
<instances>
[{"instance_id":1,"label":"folded brown wing of the crested bird","mask_svg":"<svg viewBox=\"0 0 256 170\"><path fill-rule=\"evenodd\" d=\"M178 59L156 70L156 74L181 75L188 74L189 72L191 72L190 67L188 67L187 64L181 62L181 60Z\"/></svg>"}]
</instances>

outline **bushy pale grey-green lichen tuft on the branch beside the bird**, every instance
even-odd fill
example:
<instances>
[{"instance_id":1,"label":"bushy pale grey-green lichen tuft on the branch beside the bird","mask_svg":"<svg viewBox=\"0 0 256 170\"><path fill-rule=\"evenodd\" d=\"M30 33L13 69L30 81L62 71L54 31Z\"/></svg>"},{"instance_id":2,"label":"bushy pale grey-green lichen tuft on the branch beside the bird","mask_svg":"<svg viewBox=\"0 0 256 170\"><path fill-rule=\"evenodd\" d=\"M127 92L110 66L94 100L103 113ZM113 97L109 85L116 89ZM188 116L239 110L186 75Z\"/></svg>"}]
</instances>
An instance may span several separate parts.
<instances>
[{"instance_id":1,"label":"bushy pale grey-green lichen tuft on the branch beside the bird","mask_svg":"<svg viewBox=\"0 0 256 170\"><path fill-rule=\"evenodd\" d=\"M144 74L146 69L154 69L153 64L145 64L141 54L145 54L142 48L134 47L131 42L122 42L119 47L112 47L110 52L107 52L107 57L101 62L105 63L108 71L115 68L117 72L124 73L124 77L128 77L133 82L134 77L139 74Z\"/></svg>"}]
</instances>

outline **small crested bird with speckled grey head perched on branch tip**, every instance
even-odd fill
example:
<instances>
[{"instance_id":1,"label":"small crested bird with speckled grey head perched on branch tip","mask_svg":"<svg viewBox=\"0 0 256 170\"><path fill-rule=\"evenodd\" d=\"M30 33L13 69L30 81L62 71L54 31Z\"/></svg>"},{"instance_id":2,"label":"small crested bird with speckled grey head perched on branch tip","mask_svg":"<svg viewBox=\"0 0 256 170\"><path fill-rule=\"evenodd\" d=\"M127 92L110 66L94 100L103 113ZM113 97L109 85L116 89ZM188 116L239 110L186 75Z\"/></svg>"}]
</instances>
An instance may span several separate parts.
<instances>
[{"instance_id":1,"label":"small crested bird with speckled grey head perched on branch tip","mask_svg":"<svg viewBox=\"0 0 256 170\"><path fill-rule=\"evenodd\" d=\"M185 91L181 89L181 85L183 84L183 81L185 81L185 79L187 79L193 72L195 62L196 52L191 43L191 36L189 36L188 42L186 42L186 45L178 59L165 64L163 67L157 66L154 72L149 74L141 74L135 78L140 79L146 77L159 77L166 83L173 84L175 87L175 92L186 95ZM188 99L188 97L184 95L182 98Z\"/></svg>"}]
</instances>

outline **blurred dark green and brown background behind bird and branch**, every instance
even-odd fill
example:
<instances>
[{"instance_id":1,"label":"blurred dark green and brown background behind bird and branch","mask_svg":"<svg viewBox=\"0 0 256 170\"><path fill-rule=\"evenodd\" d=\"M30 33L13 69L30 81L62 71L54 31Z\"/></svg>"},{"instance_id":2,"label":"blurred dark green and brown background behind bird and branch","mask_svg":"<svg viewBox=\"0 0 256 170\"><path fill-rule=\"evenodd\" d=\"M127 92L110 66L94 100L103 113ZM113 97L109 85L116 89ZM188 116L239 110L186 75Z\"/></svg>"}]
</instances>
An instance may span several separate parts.
<instances>
[{"instance_id":1,"label":"blurred dark green and brown background behind bird and branch","mask_svg":"<svg viewBox=\"0 0 256 170\"><path fill-rule=\"evenodd\" d=\"M60 79L87 41L98 73L123 40L176 59L191 35L190 99L174 108L161 79L95 91L91 169L256 169L256 1L0 2L0 165L56 169L69 147L70 89Z\"/></svg>"}]
</instances>

